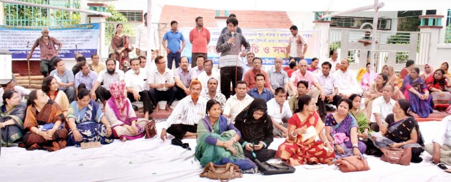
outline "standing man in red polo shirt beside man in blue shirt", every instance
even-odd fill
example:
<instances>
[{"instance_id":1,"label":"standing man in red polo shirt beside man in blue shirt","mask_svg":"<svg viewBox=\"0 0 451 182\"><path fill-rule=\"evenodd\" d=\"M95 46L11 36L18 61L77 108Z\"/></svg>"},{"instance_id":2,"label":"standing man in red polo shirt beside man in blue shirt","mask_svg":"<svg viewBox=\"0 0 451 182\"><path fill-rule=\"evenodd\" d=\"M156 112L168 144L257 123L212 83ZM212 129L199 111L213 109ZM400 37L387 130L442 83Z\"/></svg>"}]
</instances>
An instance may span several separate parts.
<instances>
[{"instance_id":1,"label":"standing man in red polo shirt beside man in blue shirt","mask_svg":"<svg viewBox=\"0 0 451 182\"><path fill-rule=\"evenodd\" d=\"M191 50L191 59L195 60L197 55L205 55L207 57L207 45L210 42L210 31L204 27L204 19L196 18L196 27L190 32L190 42L193 44ZM191 61L191 68L196 66L195 61Z\"/></svg>"}]
</instances>

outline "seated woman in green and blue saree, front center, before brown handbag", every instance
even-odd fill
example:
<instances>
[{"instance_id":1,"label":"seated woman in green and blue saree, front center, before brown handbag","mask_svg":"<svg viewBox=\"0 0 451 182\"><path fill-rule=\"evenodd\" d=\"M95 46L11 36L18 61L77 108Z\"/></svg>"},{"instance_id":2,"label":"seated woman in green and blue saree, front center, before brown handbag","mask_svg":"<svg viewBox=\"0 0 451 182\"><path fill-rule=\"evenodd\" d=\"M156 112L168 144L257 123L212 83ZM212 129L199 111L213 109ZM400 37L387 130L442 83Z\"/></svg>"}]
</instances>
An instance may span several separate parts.
<instances>
[{"instance_id":1,"label":"seated woman in green and blue saree, front center, before brown handbag","mask_svg":"<svg viewBox=\"0 0 451 182\"><path fill-rule=\"evenodd\" d=\"M257 165L244 156L238 143L241 133L221 115L221 104L212 99L207 102L207 115L197 123L197 146L194 156L204 167L233 163L245 173L256 173Z\"/></svg>"}]
</instances>

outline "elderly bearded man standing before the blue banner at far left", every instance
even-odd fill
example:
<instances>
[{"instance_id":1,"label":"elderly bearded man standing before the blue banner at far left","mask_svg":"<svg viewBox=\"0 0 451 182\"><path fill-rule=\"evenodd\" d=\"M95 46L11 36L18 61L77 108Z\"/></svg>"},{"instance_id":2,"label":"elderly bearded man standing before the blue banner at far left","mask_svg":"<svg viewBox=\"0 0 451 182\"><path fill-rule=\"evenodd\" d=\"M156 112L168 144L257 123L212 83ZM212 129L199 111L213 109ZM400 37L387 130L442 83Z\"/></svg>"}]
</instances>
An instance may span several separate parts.
<instances>
[{"instance_id":1,"label":"elderly bearded man standing before the blue banner at far left","mask_svg":"<svg viewBox=\"0 0 451 182\"><path fill-rule=\"evenodd\" d=\"M55 37L48 36L48 28L43 27L41 34L43 36L36 39L35 43L31 47L30 54L26 56L26 59L29 60L31 58L31 55L33 55L34 50L36 47L39 46L39 49L41 51L41 73L45 76L48 75L48 73L55 70L55 67L53 65L53 61L55 61L56 58L58 58L58 53L60 52L63 43L61 43L58 39ZM55 45L58 45L58 50L56 50Z\"/></svg>"}]
</instances>

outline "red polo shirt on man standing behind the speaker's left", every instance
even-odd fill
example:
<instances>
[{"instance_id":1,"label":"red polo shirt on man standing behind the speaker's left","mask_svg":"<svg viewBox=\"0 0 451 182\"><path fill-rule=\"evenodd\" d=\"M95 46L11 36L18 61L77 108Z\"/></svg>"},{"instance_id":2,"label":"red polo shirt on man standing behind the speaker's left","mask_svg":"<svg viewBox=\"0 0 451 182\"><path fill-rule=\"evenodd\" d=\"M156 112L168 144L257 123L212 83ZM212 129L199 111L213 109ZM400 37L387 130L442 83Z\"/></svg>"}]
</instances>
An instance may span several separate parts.
<instances>
[{"instance_id":1,"label":"red polo shirt on man standing behind the speaker's left","mask_svg":"<svg viewBox=\"0 0 451 182\"><path fill-rule=\"evenodd\" d=\"M194 27L190 32L190 41L193 44L192 53L207 53L207 44L210 39L210 31L202 27L199 31Z\"/></svg>"}]
</instances>

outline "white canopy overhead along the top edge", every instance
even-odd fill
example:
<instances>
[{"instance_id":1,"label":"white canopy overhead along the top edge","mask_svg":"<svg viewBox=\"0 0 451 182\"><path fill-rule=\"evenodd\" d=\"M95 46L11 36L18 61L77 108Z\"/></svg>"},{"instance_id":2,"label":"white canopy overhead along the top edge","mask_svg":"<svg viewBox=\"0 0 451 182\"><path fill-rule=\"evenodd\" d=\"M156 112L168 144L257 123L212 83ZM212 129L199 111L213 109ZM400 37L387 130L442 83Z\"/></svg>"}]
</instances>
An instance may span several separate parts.
<instances>
[{"instance_id":1,"label":"white canopy overhead along the top edge","mask_svg":"<svg viewBox=\"0 0 451 182\"><path fill-rule=\"evenodd\" d=\"M155 0L160 5L174 5L214 10L260 11L344 11L374 4L374 0ZM451 9L451 0L379 0L380 11ZM371 10L372 11L372 10Z\"/></svg>"}]
</instances>

